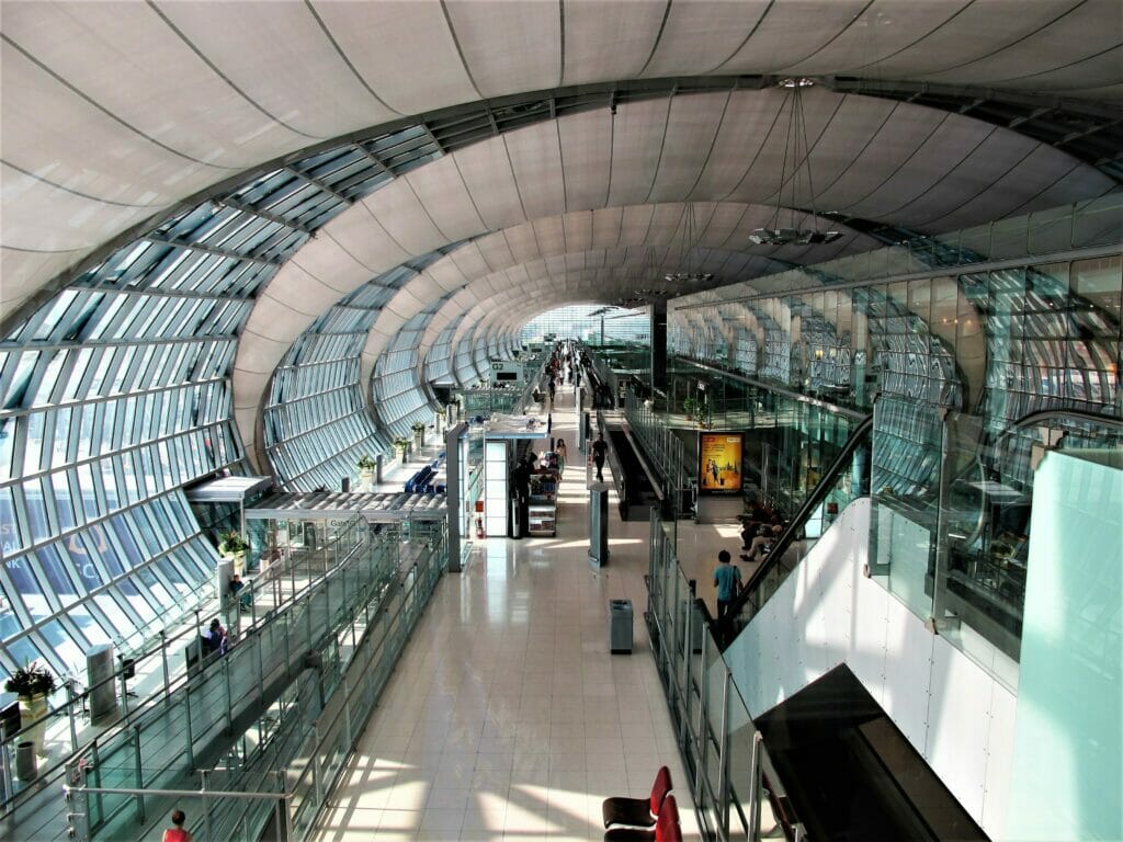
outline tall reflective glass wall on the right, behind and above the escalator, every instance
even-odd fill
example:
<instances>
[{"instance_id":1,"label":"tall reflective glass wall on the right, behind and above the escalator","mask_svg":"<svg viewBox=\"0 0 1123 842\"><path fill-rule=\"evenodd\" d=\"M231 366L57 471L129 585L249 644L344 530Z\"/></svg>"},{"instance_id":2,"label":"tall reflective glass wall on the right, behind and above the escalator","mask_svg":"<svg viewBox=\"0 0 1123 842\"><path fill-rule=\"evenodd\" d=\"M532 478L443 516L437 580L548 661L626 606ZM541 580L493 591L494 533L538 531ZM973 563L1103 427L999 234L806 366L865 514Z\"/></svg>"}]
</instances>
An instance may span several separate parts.
<instances>
[{"instance_id":1,"label":"tall reflective glass wall on the right, behind and above the escalator","mask_svg":"<svg viewBox=\"0 0 1123 842\"><path fill-rule=\"evenodd\" d=\"M692 305L688 319L673 309L670 319L682 332L701 311L733 347L754 346L755 372L738 365L752 359L743 351L731 367L759 382L759 394L774 383L873 411L871 571L917 614L969 624L983 644L949 639L989 665L994 652L1017 657L1040 454L1123 447L1121 289L1116 254L713 302ZM741 323L722 310L740 312ZM672 395L693 394L676 375L699 373L672 368ZM750 436L778 423L767 400L749 402ZM761 452L746 475L763 483L767 465L804 461L783 442ZM783 491L784 476L774 479Z\"/></svg>"}]
</instances>

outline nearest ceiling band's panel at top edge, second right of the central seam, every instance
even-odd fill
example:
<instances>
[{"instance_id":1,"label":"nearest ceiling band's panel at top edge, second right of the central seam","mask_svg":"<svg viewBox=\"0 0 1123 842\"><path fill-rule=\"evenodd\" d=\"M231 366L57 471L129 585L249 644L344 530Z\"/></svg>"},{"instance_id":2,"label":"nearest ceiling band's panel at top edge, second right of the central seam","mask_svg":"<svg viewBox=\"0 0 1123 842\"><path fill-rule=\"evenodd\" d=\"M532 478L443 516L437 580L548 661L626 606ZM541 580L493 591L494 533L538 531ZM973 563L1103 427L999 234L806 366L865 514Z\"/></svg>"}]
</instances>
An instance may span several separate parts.
<instances>
[{"instance_id":1,"label":"nearest ceiling band's panel at top edge, second right of the central seam","mask_svg":"<svg viewBox=\"0 0 1123 842\"><path fill-rule=\"evenodd\" d=\"M739 52L768 8L769 0L678 2L668 6L659 46L643 73L648 77L718 70L722 73L736 72L728 71L722 64Z\"/></svg>"}]
</instances>

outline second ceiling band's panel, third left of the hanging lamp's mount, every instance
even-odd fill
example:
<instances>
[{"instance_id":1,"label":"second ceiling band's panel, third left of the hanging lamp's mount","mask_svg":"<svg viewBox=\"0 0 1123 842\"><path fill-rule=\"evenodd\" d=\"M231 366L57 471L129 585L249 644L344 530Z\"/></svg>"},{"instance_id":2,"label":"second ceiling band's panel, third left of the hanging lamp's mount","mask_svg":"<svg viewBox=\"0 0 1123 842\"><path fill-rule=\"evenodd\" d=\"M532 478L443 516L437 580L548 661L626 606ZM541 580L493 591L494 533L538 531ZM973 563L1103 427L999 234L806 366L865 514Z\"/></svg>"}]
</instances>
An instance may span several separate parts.
<instances>
[{"instance_id":1,"label":"second ceiling band's panel, third left of the hanging lamp's mount","mask_svg":"<svg viewBox=\"0 0 1123 842\"><path fill-rule=\"evenodd\" d=\"M669 104L669 100L658 99L617 108L609 204L636 204L651 192L663 153Z\"/></svg>"}]
</instances>

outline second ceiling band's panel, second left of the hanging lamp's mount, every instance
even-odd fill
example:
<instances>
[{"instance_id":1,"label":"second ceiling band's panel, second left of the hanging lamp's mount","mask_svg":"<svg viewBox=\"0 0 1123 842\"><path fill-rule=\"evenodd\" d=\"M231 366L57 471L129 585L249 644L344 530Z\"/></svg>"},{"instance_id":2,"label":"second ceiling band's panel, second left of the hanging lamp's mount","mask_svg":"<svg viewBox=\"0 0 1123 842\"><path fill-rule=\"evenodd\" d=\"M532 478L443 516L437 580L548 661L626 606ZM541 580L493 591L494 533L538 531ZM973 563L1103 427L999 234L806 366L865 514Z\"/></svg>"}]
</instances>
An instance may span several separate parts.
<instances>
[{"instance_id":1,"label":"second ceiling band's panel, second left of the hanging lamp's mount","mask_svg":"<svg viewBox=\"0 0 1123 842\"><path fill-rule=\"evenodd\" d=\"M676 201L694 190L714 148L730 97L728 92L704 93L670 101L659 170L647 201Z\"/></svg>"}]
</instances>

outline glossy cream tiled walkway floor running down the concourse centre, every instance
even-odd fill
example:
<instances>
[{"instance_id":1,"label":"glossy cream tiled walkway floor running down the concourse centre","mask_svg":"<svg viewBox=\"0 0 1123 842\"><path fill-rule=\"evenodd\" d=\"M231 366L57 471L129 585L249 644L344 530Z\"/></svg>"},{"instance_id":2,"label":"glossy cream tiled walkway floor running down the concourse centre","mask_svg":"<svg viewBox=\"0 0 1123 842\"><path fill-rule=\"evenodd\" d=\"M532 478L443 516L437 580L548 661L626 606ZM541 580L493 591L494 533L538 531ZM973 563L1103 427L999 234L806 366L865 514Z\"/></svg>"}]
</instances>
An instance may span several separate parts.
<instances>
[{"instance_id":1,"label":"glossy cream tiled walkway floor running down the concourse centre","mask_svg":"<svg viewBox=\"0 0 1123 842\"><path fill-rule=\"evenodd\" d=\"M318 842L599 840L601 802L646 796L664 763L684 835L699 839L642 622L649 527L621 522L612 506L610 564L590 567L572 394L559 392L558 404L554 431L566 439L569 466L557 537L490 538L463 574L445 576ZM721 534L736 539L732 527L697 531L683 546L697 547L701 567L712 567L718 543L736 549ZM711 592L700 588L712 602ZM632 601L631 655L609 653L610 598Z\"/></svg>"}]
</instances>

